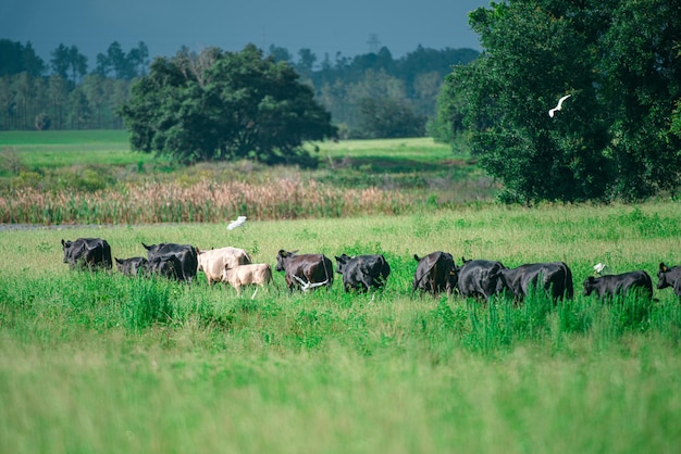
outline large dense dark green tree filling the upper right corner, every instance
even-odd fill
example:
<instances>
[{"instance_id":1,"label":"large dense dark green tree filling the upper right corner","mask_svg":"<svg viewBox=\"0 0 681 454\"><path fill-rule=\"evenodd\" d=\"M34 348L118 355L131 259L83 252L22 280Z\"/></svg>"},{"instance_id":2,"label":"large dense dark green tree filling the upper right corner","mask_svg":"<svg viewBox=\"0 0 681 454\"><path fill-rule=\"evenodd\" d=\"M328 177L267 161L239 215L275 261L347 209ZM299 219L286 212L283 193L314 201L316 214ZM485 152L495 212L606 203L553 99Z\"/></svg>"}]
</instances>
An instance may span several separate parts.
<instances>
[{"instance_id":1,"label":"large dense dark green tree filling the upper right corner","mask_svg":"<svg viewBox=\"0 0 681 454\"><path fill-rule=\"evenodd\" d=\"M505 200L639 200L678 188L679 4L511 0L470 23L484 52L447 77L439 126L451 136L465 117Z\"/></svg>"}]
</instances>

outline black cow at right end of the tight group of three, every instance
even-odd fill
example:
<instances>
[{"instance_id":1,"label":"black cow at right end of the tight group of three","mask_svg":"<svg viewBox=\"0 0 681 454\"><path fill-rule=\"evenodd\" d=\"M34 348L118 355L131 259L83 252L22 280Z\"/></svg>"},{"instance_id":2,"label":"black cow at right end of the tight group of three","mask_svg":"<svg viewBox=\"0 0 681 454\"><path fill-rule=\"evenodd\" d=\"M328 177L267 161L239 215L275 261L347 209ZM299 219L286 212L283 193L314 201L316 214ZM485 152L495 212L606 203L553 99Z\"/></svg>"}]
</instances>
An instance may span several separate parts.
<instances>
[{"instance_id":1,"label":"black cow at right end of the tight group of three","mask_svg":"<svg viewBox=\"0 0 681 454\"><path fill-rule=\"evenodd\" d=\"M541 279L541 280L540 280ZM502 281L519 300L532 289L544 289L554 301L572 299L572 272L564 262L531 263L517 268L502 268Z\"/></svg>"}]
</instances>

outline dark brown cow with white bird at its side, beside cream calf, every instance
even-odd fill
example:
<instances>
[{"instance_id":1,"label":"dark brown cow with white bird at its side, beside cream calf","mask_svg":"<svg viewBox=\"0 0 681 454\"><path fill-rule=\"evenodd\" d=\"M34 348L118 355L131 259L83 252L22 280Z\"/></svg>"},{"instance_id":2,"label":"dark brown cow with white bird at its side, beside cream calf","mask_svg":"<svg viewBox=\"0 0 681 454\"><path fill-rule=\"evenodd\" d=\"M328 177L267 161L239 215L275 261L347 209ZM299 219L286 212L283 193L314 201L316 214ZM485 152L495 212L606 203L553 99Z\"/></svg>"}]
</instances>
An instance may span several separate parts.
<instances>
[{"instance_id":1,"label":"dark brown cow with white bird at its side, beside cream calf","mask_svg":"<svg viewBox=\"0 0 681 454\"><path fill-rule=\"evenodd\" d=\"M285 272L284 279L288 291L294 287L307 291L317 287L326 286L326 290L333 285L333 265L331 260L322 254L300 254L298 251L280 250L276 254L277 272Z\"/></svg>"}]
</instances>

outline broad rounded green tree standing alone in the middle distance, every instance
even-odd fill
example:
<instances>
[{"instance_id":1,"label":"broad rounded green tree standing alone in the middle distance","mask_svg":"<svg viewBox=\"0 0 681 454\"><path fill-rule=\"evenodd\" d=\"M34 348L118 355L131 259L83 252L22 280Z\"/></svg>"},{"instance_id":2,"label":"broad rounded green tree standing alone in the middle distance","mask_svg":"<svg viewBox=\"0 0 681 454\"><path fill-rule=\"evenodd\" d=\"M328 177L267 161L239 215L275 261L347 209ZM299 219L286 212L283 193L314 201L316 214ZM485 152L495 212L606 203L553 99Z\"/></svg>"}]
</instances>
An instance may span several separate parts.
<instances>
[{"instance_id":1,"label":"broad rounded green tree standing alone in the middle distance","mask_svg":"<svg viewBox=\"0 0 681 454\"><path fill-rule=\"evenodd\" d=\"M336 134L331 115L286 63L248 45L156 59L120 114L134 150L179 162L301 162L305 140Z\"/></svg>"}]
</instances>

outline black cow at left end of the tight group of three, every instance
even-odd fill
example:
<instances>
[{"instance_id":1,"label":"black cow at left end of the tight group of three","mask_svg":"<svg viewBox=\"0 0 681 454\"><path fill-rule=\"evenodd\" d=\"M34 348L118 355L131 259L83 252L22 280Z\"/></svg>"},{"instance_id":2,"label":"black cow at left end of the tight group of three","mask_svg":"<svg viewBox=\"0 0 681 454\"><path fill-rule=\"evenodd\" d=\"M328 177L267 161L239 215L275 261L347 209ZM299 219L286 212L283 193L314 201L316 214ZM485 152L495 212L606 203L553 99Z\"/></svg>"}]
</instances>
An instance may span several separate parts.
<instances>
[{"instance_id":1,"label":"black cow at left end of the tight group of three","mask_svg":"<svg viewBox=\"0 0 681 454\"><path fill-rule=\"evenodd\" d=\"M433 293L433 297L442 291L451 294L456 287L458 268L450 253L435 251L423 257L413 254L413 258L418 265L413 274L412 292L421 290Z\"/></svg>"}]
</instances>

